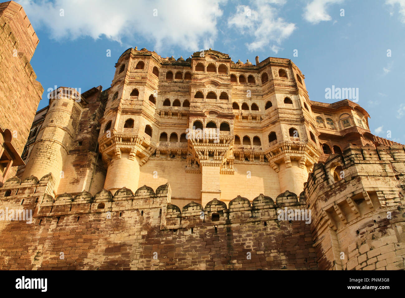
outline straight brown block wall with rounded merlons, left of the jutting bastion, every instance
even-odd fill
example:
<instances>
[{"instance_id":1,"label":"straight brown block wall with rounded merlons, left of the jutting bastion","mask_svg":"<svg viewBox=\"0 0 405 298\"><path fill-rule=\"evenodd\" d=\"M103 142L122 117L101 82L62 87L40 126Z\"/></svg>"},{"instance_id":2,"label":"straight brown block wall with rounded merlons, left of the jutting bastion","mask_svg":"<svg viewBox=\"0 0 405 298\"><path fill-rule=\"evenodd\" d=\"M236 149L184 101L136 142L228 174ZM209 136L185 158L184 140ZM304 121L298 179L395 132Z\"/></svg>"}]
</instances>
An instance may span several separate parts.
<instances>
[{"instance_id":1,"label":"straight brown block wall with rounded merlons, left of the jutting bastion","mask_svg":"<svg viewBox=\"0 0 405 298\"><path fill-rule=\"evenodd\" d=\"M168 184L54 200L39 195L52 176L37 181L13 178L0 191L0 210L34 210L31 224L0 221L1 269L317 269L309 225L277 220L278 208L305 207L292 193L180 212Z\"/></svg>"}]
</instances>

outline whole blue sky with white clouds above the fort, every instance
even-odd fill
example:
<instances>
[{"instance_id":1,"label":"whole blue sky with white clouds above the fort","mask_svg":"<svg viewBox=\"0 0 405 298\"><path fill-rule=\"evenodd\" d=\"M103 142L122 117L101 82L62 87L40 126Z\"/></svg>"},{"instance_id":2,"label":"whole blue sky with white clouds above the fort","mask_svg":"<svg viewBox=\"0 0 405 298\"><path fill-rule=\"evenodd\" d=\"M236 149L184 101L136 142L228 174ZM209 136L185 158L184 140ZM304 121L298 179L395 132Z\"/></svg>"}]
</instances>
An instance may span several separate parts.
<instances>
[{"instance_id":1,"label":"whole blue sky with white clouds above the fort","mask_svg":"<svg viewBox=\"0 0 405 298\"><path fill-rule=\"evenodd\" d=\"M108 88L129 47L176 59L212 47L234 62L290 58L313 101L337 101L325 99L333 85L358 88L371 132L405 142L405 0L17 2L40 40L31 60L45 89L38 109L55 85Z\"/></svg>"}]
</instances>

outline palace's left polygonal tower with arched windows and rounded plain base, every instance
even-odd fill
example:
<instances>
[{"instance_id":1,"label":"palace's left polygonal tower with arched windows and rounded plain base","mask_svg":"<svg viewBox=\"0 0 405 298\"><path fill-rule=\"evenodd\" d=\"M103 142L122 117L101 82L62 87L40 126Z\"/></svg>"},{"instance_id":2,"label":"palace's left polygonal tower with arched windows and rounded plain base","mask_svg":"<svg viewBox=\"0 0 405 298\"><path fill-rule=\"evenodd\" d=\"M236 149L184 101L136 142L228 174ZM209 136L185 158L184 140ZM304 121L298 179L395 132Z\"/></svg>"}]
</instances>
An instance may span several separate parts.
<instances>
[{"instance_id":1,"label":"palace's left polygonal tower with arched windows and rounded plain base","mask_svg":"<svg viewBox=\"0 0 405 298\"><path fill-rule=\"evenodd\" d=\"M158 79L153 72L158 65L155 56L146 57L146 65L136 71L137 77L131 74L136 69L133 49L125 51L116 64L106 112L100 120L99 148L107 165L105 189L114 191L126 186L136 190L139 167L156 148L151 140L156 126L150 117L154 114L154 106L148 100L149 94L155 94L158 89ZM141 86L135 92L130 90L131 84Z\"/></svg>"}]
</instances>

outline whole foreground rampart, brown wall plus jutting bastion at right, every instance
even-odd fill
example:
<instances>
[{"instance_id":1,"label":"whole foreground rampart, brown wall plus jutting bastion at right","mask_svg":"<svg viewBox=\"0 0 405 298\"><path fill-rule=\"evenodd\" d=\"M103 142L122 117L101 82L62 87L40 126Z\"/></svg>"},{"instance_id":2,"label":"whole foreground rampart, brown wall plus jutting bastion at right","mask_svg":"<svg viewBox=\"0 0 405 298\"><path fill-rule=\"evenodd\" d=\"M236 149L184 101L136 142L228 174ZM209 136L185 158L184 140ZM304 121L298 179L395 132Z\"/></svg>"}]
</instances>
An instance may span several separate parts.
<instances>
[{"instance_id":1,"label":"whole foreground rampart, brown wall plus jutting bastion at right","mask_svg":"<svg viewBox=\"0 0 405 298\"><path fill-rule=\"evenodd\" d=\"M403 147L352 146L315 165L299 200L286 191L181 209L168 183L54 199L51 174L15 177L0 189L0 219L18 209L33 219L0 221L0 268L403 269L404 162ZM285 208L311 210L311 222L279 220Z\"/></svg>"}]
</instances>

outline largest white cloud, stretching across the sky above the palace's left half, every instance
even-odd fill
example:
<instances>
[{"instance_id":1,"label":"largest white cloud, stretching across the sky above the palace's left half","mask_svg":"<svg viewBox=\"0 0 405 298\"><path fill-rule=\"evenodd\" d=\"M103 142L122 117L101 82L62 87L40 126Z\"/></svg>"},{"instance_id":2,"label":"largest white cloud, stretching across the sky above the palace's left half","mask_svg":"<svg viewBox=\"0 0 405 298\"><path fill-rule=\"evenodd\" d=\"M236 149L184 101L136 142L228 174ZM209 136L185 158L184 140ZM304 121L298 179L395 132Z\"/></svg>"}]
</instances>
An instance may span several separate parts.
<instances>
[{"instance_id":1,"label":"largest white cloud, stretching across the sky above the palace's left half","mask_svg":"<svg viewBox=\"0 0 405 298\"><path fill-rule=\"evenodd\" d=\"M77 39L103 34L121 42L136 41L141 36L155 43L155 50L178 45L187 50L213 46L217 34L217 19L222 16L223 0L142 1L132 0L30 0L18 1L34 26L45 26L55 40ZM60 16L64 9L64 17ZM153 10L157 9L157 16ZM156 12L156 11L155 11ZM141 45L142 47L142 45ZM150 49L153 50L153 49Z\"/></svg>"}]
</instances>

